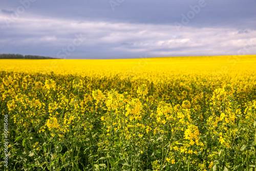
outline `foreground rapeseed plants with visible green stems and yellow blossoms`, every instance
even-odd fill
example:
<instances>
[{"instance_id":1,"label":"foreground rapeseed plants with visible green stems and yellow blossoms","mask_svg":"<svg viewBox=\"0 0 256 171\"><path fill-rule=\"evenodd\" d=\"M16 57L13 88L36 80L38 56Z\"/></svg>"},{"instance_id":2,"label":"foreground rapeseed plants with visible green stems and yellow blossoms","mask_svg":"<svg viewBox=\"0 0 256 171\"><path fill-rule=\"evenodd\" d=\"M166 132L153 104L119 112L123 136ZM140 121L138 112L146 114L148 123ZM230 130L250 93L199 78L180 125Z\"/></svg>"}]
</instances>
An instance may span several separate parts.
<instances>
[{"instance_id":1,"label":"foreground rapeseed plants with visible green stems and yellow blossoms","mask_svg":"<svg viewBox=\"0 0 256 171\"><path fill-rule=\"evenodd\" d=\"M192 78L181 86L179 79L0 77L9 170L255 170L254 89Z\"/></svg>"}]
</instances>

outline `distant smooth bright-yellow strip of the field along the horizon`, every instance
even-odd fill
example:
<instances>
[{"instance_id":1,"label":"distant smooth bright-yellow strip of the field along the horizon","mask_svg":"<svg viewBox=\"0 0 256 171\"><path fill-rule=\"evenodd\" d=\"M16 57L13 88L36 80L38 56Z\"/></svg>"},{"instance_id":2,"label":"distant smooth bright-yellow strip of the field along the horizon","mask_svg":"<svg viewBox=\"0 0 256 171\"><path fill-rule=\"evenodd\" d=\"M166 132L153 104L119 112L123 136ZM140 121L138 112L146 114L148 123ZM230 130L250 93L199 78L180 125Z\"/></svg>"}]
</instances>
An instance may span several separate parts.
<instances>
[{"instance_id":1,"label":"distant smooth bright-yellow strip of the field along the horizon","mask_svg":"<svg viewBox=\"0 0 256 171\"><path fill-rule=\"evenodd\" d=\"M246 56L206 56L206 57L164 57L139 59L1 59L1 71L24 73L79 74L109 76L111 74L198 73L225 74L229 71L255 69L255 55ZM175 73L174 73L175 71Z\"/></svg>"}]
</instances>

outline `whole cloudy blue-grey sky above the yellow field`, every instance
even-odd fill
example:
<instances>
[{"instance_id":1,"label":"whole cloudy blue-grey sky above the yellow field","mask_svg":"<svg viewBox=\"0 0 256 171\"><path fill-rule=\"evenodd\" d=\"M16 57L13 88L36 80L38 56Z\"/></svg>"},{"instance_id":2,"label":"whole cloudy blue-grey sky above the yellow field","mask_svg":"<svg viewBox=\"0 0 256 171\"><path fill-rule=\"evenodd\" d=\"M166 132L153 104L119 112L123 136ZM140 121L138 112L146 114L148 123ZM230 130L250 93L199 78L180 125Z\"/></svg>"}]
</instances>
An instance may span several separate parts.
<instances>
[{"instance_id":1,"label":"whole cloudy blue-grey sky above the yellow field","mask_svg":"<svg viewBox=\"0 0 256 171\"><path fill-rule=\"evenodd\" d=\"M256 0L0 2L0 53L59 58L256 54Z\"/></svg>"}]
</instances>

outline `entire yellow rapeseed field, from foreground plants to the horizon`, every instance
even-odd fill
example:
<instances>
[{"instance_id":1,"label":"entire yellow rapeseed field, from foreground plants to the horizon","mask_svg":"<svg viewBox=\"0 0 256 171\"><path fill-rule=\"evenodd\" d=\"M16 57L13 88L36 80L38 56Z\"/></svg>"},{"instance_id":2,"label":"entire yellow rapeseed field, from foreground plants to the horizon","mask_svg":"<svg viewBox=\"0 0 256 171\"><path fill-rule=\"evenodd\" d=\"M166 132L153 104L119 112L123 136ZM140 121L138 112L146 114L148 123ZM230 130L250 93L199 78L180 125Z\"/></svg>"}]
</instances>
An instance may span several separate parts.
<instances>
[{"instance_id":1,"label":"entire yellow rapeseed field, from foreground plants to the horizon","mask_svg":"<svg viewBox=\"0 0 256 171\"><path fill-rule=\"evenodd\" d=\"M1 59L0 169L255 170L255 66Z\"/></svg>"}]
</instances>

